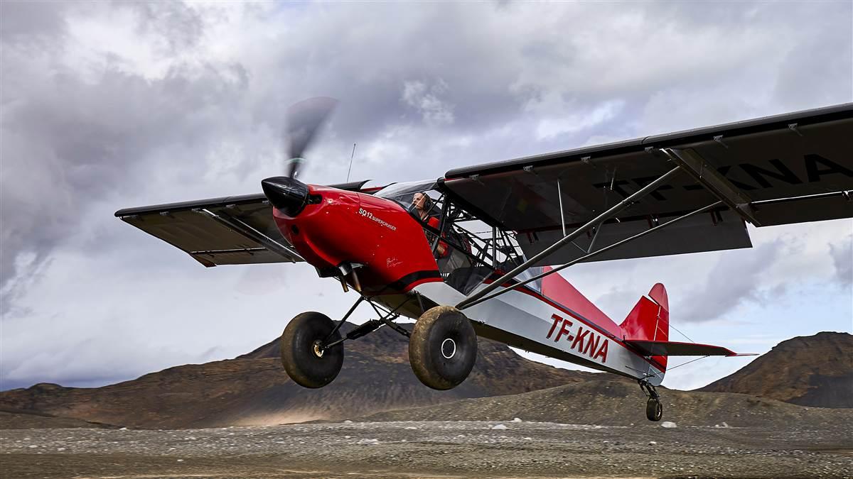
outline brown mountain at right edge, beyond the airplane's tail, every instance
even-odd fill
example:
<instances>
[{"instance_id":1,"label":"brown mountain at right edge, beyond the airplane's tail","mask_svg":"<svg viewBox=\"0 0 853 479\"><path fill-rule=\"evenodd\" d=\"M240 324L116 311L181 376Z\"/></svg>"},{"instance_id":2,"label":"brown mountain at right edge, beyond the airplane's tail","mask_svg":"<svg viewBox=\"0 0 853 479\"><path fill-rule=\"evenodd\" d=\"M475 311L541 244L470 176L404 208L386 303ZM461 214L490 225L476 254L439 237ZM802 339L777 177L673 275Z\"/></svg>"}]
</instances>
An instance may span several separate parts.
<instances>
[{"instance_id":1,"label":"brown mountain at right edge, beyond the airplane's tail","mask_svg":"<svg viewBox=\"0 0 853 479\"><path fill-rule=\"evenodd\" d=\"M769 353L700 391L760 395L811 407L853 407L853 335L819 332Z\"/></svg>"}]
</instances>

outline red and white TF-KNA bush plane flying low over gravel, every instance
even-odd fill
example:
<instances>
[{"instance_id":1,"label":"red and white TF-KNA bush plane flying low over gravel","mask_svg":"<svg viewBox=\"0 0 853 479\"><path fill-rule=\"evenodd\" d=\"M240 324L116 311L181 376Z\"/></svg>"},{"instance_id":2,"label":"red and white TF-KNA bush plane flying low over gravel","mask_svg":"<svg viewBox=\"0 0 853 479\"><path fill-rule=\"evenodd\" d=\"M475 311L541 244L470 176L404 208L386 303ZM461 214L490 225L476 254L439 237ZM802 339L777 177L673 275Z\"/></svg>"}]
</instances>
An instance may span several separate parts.
<instances>
[{"instance_id":1,"label":"red and white TF-KNA bush plane flying low over gravel","mask_svg":"<svg viewBox=\"0 0 853 479\"><path fill-rule=\"evenodd\" d=\"M302 313L282 334L284 368L308 388L338 375L345 340L388 326L409 337L415 375L431 388L467 378L482 336L635 378L657 421L655 386L669 356L736 354L670 341L661 284L617 322L555 273L580 262L751 247L746 222L853 216L853 103L382 188L300 182L303 152L333 107L316 98L291 109L290 171L261 182L263 194L115 213L207 267L305 261L356 291L343 318ZM342 337L363 302L377 317ZM401 316L417 320L412 332L394 322Z\"/></svg>"}]
</instances>

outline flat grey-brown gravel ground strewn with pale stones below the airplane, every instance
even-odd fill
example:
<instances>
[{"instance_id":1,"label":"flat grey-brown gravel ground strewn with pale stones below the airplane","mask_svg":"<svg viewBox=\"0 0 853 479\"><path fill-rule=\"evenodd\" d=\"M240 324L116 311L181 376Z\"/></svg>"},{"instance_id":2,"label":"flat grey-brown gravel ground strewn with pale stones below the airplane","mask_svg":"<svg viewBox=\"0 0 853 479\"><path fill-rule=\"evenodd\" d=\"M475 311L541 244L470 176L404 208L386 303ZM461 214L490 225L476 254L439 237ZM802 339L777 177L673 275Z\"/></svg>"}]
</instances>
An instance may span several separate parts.
<instances>
[{"instance_id":1,"label":"flat grey-brown gravel ground strewn with pale stones below the airplane","mask_svg":"<svg viewBox=\"0 0 853 479\"><path fill-rule=\"evenodd\" d=\"M430 421L0 430L0 475L853 477L853 437L846 426L779 430Z\"/></svg>"}]
</instances>

